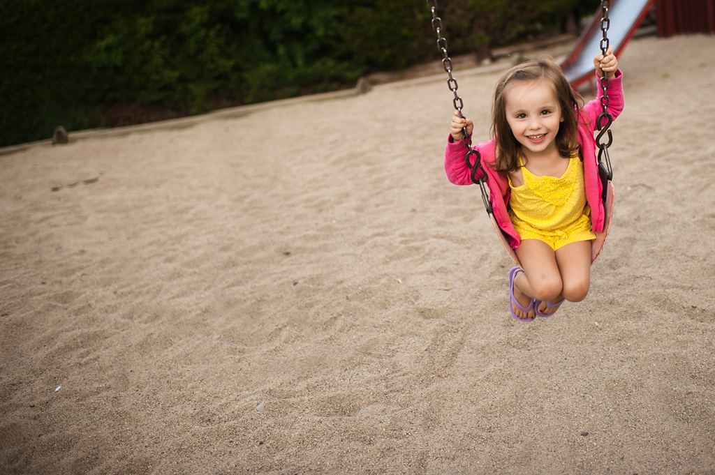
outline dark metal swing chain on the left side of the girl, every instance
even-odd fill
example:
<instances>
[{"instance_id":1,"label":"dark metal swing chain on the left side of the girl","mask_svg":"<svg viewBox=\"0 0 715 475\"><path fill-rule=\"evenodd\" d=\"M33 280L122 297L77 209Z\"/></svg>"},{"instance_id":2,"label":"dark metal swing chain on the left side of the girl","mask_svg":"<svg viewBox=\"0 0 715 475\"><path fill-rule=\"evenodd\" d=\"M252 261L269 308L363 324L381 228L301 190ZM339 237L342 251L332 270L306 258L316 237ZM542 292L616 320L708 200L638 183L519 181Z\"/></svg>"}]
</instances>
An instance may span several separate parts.
<instances>
[{"instance_id":1,"label":"dark metal swing chain on the left side of the girl","mask_svg":"<svg viewBox=\"0 0 715 475\"><path fill-rule=\"evenodd\" d=\"M447 86L454 94L454 99L452 103L454 104L454 108L458 112L459 116L464 119L464 116L462 115L464 101L462 101L462 98L457 94L457 89L459 88L459 86L457 84L457 79L452 76L452 59L450 59L449 55L447 54L447 40L442 36L442 19L437 16L437 0L427 0L427 6L432 12L432 29L437 32L437 47L440 50L440 53L442 53L442 66L444 67L445 71L449 76L449 79L447 80ZM464 159L467 162L467 166L472 171L472 173L470 174L470 178L472 179L473 183L479 185L479 188L482 192L482 201L484 201L484 207L486 208L488 214L492 214L492 207L489 202L489 194L487 192L487 187L485 184L487 175L481 163L481 155L476 149L472 148L472 138L467 133L466 126L462 129L462 141L467 147L467 154L464 156ZM470 161L471 156L475 157L474 164L472 164ZM476 177L478 171L481 173L480 178Z\"/></svg>"}]
</instances>

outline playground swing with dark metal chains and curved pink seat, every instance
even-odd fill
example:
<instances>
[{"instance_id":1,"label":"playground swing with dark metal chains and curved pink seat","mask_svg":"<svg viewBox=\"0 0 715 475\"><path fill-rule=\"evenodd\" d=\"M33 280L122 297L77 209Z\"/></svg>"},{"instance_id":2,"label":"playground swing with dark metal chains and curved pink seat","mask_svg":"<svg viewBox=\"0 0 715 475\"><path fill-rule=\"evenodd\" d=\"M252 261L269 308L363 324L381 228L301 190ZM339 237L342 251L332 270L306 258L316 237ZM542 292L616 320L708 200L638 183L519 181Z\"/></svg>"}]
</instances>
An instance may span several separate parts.
<instances>
[{"instance_id":1,"label":"playground swing with dark metal chains and curved pink seat","mask_svg":"<svg viewBox=\"0 0 715 475\"><path fill-rule=\"evenodd\" d=\"M447 80L447 86L450 91L454 94L453 105L455 110L458 112L459 116L464 119L462 115L462 109L464 108L464 102L462 98L457 94L457 80L452 76L452 60L447 54L447 40L442 36L442 19L437 16L437 0L427 0L427 6L432 12L432 28L437 32L437 46L442 53L442 65L445 71L449 75ZM608 19L608 8L610 6L610 0L601 0L601 31L603 31L603 39L601 39L601 53L606 56L606 51L608 51L608 26L610 26L610 20ZM601 200L603 201L603 211L606 213L605 220L603 222L603 231L595 232L596 239L591 241L591 264L596 261L598 254L601 254L603 249L603 244L606 243L606 236L608 236L608 231L611 229L611 218L613 217L613 169L611 169L611 159L608 156L608 147L613 143L613 136L611 130L609 129L611 123L613 123L613 116L608 112L608 106L610 100L606 95L608 90L608 74L604 73L598 80L598 85L601 88L601 108L603 111L601 115L596 119L596 126L598 128L598 136L596 136L596 146L598 146L598 177L601 179L601 185L603 186L603 192L601 194ZM605 121L605 124L603 122ZM608 142L603 143L601 139L604 135L608 134ZM471 169L471 179L474 184L478 184L481 194L482 201L484 201L484 206L489 215L494 229L497 231L499 238L501 239L501 244L506 249L507 253L514 261L514 264L521 267L521 262L519 262L518 257L514 249L511 249L509 245L507 234L499 227L499 224L494 218L492 206L489 201L489 194L487 192L486 186L486 173L481 164L481 157L476 149L472 148L472 139L467 134L466 126L462 129L463 142L467 147L467 154L464 159L467 162L467 166ZM474 165L471 164L471 156L475 157ZM482 177L480 179L476 178L477 172L480 171Z\"/></svg>"}]
</instances>

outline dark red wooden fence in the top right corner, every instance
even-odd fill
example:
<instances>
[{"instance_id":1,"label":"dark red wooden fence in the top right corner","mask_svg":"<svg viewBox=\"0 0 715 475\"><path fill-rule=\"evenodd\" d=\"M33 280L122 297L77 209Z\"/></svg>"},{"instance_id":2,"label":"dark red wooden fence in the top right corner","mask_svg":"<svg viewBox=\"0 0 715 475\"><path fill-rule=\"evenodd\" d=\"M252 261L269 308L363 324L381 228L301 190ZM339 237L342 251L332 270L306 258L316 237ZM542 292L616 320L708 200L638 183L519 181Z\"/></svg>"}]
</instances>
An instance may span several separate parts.
<instances>
[{"instance_id":1,"label":"dark red wooden fence in the top right corner","mask_svg":"<svg viewBox=\"0 0 715 475\"><path fill-rule=\"evenodd\" d=\"M715 33L715 0L656 0L658 36Z\"/></svg>"}]
</instances>

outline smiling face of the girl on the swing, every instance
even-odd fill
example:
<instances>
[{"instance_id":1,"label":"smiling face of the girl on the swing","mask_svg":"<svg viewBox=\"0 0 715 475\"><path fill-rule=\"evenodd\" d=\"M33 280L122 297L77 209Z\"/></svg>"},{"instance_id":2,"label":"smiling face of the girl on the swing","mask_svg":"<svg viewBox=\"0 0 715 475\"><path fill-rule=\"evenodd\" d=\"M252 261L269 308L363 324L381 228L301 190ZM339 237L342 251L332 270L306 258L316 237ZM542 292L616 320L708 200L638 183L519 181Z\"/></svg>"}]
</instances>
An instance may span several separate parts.
<instances>
[{"instance_id":1,"label":"smiling face of the girl on the swing","mask_svg":"<svg viewBox=\"0 0 715 475\"><path fill-rule=\"evenodd\" d=\"M563 117L546 81L519 82L506 91L506 121L528 157L551 154Z\"/></svg>"}]
</instances>

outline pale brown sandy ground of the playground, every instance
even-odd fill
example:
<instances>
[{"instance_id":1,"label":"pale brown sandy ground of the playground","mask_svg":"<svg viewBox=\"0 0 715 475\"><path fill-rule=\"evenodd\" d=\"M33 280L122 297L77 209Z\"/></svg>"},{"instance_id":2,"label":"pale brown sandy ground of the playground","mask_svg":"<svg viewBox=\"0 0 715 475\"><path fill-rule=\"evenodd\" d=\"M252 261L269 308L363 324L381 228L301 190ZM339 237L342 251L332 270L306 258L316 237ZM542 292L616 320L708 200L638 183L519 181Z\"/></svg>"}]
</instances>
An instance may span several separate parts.
<instances>
[{"instance_id":1,"label":"pale brown sandy ground of the playground","mask_svg":"<svg viewBox=\"0 0 715 475\"><path fill-rule=\"evenodd\" d=\"M714 474L715 37L620 64L611 235L533 324L445 77L0 156L0 472Z\"/></svg>"}]
</instances>

